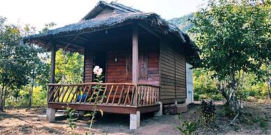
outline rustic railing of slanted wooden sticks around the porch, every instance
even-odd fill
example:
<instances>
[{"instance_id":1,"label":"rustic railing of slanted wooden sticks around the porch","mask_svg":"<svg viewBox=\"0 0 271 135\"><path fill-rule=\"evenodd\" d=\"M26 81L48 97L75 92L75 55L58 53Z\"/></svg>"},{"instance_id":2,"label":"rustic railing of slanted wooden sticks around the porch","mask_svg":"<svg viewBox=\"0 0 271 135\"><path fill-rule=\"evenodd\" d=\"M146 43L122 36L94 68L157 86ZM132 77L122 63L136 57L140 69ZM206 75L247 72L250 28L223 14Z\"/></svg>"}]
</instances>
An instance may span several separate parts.
<instances>
[{"instance_id":1,"label":"rustic railing of slanted wooden sticks around the porch","mask_svg":"<svg viewBox=\"0 0 271 135\"><path fill-rule=\"evenodd\" d=\"M102 90L97 90L96 85L101 85ZM159 101L159 86L146 84L48 84L48 87L48 103L93 104L94 93L99 95L99 104L146 106Z\"/></svg>"}]
</instances>

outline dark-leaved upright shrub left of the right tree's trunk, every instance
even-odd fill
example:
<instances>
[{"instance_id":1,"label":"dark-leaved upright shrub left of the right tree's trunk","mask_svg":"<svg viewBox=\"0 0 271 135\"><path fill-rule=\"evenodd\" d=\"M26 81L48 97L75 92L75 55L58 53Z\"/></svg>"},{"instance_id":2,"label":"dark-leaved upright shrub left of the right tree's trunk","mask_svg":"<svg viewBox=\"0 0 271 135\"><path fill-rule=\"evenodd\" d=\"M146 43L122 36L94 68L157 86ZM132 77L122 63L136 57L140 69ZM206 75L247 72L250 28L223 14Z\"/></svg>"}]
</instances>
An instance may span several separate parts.
<instances>
[{"instance_id":1,"label":"dark-leaved upright shrub left of the right tree's trunk","mask_svg":"<svg viewBox=\"0 0 271 135\"><path fill-rule=\"evenodd\" d=\"M202 100L200 104L200 122L203 122L203 125L209 127L215 118L216 113L212 100L209 102Z\"/></svg>"}]
</instances>

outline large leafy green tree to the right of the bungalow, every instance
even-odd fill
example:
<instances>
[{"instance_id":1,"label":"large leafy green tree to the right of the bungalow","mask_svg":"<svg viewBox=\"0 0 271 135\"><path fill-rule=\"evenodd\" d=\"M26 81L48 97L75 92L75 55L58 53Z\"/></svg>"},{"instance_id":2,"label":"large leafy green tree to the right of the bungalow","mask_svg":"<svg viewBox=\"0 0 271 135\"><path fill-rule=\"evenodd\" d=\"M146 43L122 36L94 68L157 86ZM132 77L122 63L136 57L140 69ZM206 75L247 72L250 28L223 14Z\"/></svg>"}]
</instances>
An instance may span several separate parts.
<instances>
[{"instance_id":1,"label":"large leafy green tree to the right of the bungalow","mask_svg":"<svg viewBox=\"0 0 271 135\"><path fill-rule=\"evenodd\" d=\"M263 79L262 66L270 61L270 1L250 5L248 1L210 0L192 19L200 47L201 67L226 82L221 94L230 110L242 111L244 72Z\"/></svg>"}]
</instances>

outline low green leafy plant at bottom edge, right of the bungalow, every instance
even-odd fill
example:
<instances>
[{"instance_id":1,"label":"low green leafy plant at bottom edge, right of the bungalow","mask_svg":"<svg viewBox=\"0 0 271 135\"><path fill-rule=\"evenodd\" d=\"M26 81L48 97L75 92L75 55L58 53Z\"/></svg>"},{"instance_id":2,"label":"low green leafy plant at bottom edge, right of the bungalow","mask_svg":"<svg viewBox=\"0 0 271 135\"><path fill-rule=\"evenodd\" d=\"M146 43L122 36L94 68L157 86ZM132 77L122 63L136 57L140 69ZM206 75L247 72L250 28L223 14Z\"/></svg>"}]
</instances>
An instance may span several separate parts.
<instances>
[{"instance_id":1,"label":"low green leafy plant at bottom edge, right of the bungalow","mask_svg":"<svg viewBox=\"0 0 271 135\"><path fill-rule=\"evenodd\" d=\"M180 125L177 126L177 129L180 130L181 134L184 134L184 135L196 134L196 130L198 128L198 122L192 122L189 120L182 122L181 114L178 115L178 118L180 120Z\"/></svg>"}]
</instances>

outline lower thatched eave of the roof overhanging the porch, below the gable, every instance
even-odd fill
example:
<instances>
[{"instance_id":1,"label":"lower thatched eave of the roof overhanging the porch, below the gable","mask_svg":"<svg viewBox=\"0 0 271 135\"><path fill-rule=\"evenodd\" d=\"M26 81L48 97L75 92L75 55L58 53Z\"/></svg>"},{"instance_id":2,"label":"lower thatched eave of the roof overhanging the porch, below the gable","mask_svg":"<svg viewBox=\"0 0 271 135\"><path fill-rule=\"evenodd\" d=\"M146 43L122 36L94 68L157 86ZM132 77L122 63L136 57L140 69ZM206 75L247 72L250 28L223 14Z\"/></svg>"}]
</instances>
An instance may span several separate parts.
<instances>
[{"instance_id":1,"label":"lower thatched eave of the roof overhanging the porch, below the gable","mask_svg":"<svg viewBox=\"0 0 271 135\"><path fill-rule=\"evenodd\" d=\"M63 44L59 45L59 47L71 51L83 52L84 47L76 45L80 43L80 35L104 31L133 23L140 24L140 26L147 29L150 33L159 36L167 36L171 39L177 40L180 42L180 45L184 45L187 49L186 56L196 56L196 58L199 58L197 53L198 47L193 44L189 36L182 33L177 26L161 19L161 17L155 13L122 13L112 15L110 17L89 19L87 21L53 29L45 33L30 35L23 38L22 41L24 43L34 43L49 49L50 45L54 43L55 40L59 41L61 38L70 37L67 38L68 40L59 41L59 44ZM76 40L76 42L73 42L73 40Z\"/></svg>"}]
</instances>

